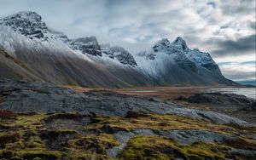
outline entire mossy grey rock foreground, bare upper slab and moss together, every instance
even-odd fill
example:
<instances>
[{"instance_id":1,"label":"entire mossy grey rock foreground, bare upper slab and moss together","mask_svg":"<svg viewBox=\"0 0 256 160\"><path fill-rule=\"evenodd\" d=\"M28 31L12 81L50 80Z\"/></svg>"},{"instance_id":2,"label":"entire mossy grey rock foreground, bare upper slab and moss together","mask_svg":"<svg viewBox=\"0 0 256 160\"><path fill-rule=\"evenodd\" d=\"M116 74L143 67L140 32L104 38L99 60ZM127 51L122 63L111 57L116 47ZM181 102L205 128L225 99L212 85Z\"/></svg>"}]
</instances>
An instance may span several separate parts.
<instances>
[{"instance_id":1,"label":"entire mossy grey rock foreground, bare upper slab and moss together","mask_svg":"<svg viewBox=\"0 0 256 160\"><path fill-rule=\"evenodd\" d=\"M0 81L0 159L253 159L255 134L167 100Z\"/></svg>"}]
</instances>

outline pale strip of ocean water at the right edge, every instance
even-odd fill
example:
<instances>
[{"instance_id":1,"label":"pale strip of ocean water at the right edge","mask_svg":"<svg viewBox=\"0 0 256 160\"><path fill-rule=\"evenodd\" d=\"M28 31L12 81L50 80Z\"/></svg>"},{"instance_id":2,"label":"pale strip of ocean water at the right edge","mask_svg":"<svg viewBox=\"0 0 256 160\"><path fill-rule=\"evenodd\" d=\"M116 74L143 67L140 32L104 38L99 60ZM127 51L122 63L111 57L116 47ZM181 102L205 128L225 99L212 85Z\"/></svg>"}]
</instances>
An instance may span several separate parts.
<instances>
[{"instance_id":1,"label":"pale strip of ocean water at the right edge","mask_svg":"<svg viewBox=\"0 0 256 160\"><path fill-rule=\"evenodd\" d=\"M220 92L223 94L243 94L248 98L256 100L256 88L216 88L207 89L206 92Z\"/></svg>"}]
</instances>

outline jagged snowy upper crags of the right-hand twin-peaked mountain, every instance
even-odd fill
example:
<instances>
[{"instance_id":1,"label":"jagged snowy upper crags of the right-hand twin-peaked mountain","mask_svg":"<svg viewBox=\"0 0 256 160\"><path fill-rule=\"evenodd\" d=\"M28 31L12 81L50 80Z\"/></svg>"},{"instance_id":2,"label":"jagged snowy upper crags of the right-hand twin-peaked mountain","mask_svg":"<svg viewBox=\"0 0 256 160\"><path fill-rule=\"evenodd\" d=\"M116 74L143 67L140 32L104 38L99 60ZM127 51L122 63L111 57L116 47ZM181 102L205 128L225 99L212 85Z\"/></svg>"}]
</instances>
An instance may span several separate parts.
<instances>
[{"instance_id":1,"label":"jagged snowy upper crags of the right-hand twin-peaked mountain","mask_svg":"<svg viewBox=\"0 0 256 160\"><path fill-rule=\"evenodd\" d=\"M210 54L201 52L199 49L189 49L182 37L177 37L172 43L167 38L163 38L155 43L151 50L140 52L137 56L144 57L146 60L155 60L157 54L160 55L159 57L164 57L165 60L170 58L179 64L194 63L221 75L218 65L212 60ZM163 54L167 54L168 57Z\"/></svg>"}]
</instances>

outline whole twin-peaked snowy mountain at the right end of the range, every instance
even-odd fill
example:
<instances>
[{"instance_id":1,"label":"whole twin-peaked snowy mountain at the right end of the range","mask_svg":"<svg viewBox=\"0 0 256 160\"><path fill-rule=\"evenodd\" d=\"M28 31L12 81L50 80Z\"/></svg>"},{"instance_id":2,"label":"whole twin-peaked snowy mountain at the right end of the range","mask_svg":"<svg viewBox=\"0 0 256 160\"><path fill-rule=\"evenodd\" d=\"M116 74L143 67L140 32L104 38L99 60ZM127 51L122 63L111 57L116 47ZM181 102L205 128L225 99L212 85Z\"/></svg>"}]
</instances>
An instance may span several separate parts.
<instances>
[{"instance_id":1,"label":"whole twin-peaked snowy mountain at the right end of the range","mask_svg":"<svg viewBox=\"0 0 256 160\"><path fill-rule=\"evenodd\" d=\"M232 83L224 78L210 54L189 49L182 37L164 38L135 56L138 69L156 81L172 84Z\"/></svg>"}]
</instances>

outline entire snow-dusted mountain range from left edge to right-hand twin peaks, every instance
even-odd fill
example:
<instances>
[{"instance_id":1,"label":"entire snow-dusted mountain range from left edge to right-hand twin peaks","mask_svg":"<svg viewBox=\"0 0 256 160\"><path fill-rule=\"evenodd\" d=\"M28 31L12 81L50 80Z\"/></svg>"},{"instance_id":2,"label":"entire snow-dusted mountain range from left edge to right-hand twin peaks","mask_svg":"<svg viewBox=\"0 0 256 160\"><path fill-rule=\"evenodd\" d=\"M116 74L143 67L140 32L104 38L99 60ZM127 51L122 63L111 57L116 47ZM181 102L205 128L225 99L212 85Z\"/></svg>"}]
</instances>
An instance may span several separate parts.
<instances>
[{"instance_id":1,"label":"entire snow-dusted mountain range from left edge to right-hand twin peaks","mask_svg":"<svg viewBox=\"0 0 256 160\"><path fill-rule=\"evenodd\" d=\"M0 20L0 71L0 77L90 87L234 84L210 54L189 49L182 37L133 56L96 37L71 39L35 12Z\"/></svg>"}]
</instances>

